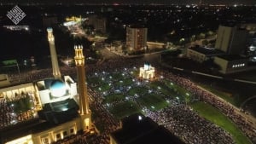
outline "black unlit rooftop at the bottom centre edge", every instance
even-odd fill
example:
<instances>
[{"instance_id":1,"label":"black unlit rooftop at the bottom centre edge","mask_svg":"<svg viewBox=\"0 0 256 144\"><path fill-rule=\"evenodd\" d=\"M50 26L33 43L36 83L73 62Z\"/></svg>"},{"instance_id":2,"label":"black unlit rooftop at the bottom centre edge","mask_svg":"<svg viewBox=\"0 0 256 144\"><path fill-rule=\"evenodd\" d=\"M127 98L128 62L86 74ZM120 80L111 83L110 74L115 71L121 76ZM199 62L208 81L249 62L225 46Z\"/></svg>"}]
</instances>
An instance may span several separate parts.
<instances>
[{"instance_id":1,"label":"black unlit rooftop at the bottom centre edge","mask_svg":"<svg viewBox=\"0 0 256 144\"><path fill-rule=\"evenodd\" d=\"M140 113L122 120L123 128L111 135L119 144L183 144L177 136Z\"/></svg>"}]
</instances>

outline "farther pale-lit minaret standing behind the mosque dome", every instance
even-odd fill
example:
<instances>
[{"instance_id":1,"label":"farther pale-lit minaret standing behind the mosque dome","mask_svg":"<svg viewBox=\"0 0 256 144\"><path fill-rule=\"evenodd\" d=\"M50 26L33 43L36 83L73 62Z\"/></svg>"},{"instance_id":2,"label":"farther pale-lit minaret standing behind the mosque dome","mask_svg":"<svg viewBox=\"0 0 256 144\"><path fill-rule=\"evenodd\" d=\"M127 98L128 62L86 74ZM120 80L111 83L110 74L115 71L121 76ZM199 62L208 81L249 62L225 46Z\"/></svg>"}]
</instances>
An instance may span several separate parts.
<instances>
[{"instance_id":1,"label":"farther pale-lit minaret standing behind the mosque dome","mask_svg":"<svg viewBox=\"0 0 256 144\"><path fill-rule=\"evenodd\" d=\"M48 41L49 41L49 51L50 51L50 57L51 57L51 65L52 65L52 72L53 76L55 78L61 78L61 72L58 64L58 59L56 55L56 49L55 49L55 37L52 33L52 28L47 28L48 32Z\"/></svg>"}]
</instances>

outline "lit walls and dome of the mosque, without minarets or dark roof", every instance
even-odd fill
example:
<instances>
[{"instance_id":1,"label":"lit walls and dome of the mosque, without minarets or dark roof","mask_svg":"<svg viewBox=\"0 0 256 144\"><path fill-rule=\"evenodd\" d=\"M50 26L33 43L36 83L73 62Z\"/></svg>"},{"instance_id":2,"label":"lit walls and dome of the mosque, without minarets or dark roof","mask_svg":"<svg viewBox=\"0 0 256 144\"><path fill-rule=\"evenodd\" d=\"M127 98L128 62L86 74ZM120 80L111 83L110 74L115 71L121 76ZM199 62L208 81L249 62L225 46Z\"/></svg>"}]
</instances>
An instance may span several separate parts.
<instances>
[{"instance_id":1,"label":"lit walls and dome of the mosque, without minarets or dark roof","mask_svg":"<svg viewBox=\"0 0 256 144\"><path fill-rule=\"evenodd\" d=\"M70 100L77 101L76 83L69 76L65 76L64 79L64 85L59 83L61 80L47 79L0 89L2 99L8 102L11 102L9 100L19 101L26 95L32 100L31 109L25 112L32 113L29 116L31 118L26 119L26 124L24 122L22 122L23 124L18 123L19 118L12 118L11 121L15 121L15 123L9 124L9 126L13 128L1 131L0 143L50 144L83 130L81 118L75 117L76 114L70 114L73 112L71 110L73 107L68 103ZM47 83L49 81L51 84ZM61 122L60 118L66 116L73 116L73 118Z\"/></svg>"}]
</instances>

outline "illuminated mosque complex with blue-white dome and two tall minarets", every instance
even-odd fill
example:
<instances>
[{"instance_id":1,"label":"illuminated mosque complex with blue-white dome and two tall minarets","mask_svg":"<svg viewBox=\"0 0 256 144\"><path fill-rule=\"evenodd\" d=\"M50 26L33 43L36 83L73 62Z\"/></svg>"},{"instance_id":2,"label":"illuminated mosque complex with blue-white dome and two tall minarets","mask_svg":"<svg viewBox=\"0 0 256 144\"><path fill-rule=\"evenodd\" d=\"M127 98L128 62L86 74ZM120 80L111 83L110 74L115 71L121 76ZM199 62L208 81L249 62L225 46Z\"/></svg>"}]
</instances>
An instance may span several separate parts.
<instances>
[{"instance_id":1,"label":"illuminated mosque complex with blue-white dome and two tall minarets","mask_svg":"<svg viewBox=\"0 0 256 144\"><path fill-rule=\"evenodd\" d=\"M85 83L83 46L74 46L78 79L75 82L70 76L61 76L53 29L47 28L47 32L53 78L0 89L4 101L19 101L25 96L29 96L32 101L30 114L27 114L32 118L19 122L12 112L14 117L11 124L0 127L0 143L50 144L70 135L76 135L79 131L93 133L95 130L91 122Z\"/></svg>"}]
</instances>

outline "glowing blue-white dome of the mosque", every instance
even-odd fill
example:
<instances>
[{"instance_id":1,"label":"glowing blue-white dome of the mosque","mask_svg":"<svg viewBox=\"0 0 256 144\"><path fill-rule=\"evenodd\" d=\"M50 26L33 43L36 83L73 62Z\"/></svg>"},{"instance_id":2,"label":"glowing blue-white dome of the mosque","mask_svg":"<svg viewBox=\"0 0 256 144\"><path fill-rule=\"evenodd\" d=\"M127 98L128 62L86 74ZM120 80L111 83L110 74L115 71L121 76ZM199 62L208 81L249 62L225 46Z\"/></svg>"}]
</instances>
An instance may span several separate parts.
<instances>
[{"instance_id":1,"label":"glowing blue-white dome of the mosque","mask_svg":"<svg viewBox=\"0 0 256 144\"><path fill-rule=\"evenodd\" d=\"M55 79L51 82L49 90L52 96L61 97L66 94L67 88L64 82L59 79Z\"/></svg>"}]
</instances>

